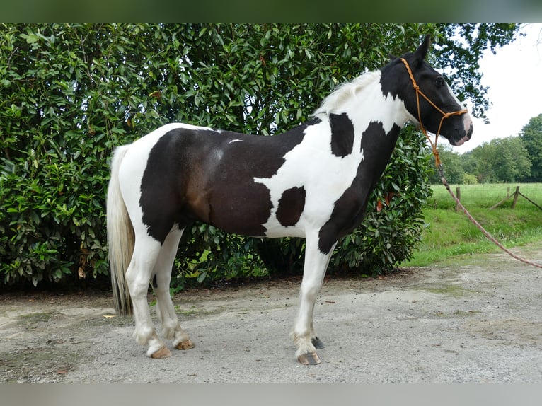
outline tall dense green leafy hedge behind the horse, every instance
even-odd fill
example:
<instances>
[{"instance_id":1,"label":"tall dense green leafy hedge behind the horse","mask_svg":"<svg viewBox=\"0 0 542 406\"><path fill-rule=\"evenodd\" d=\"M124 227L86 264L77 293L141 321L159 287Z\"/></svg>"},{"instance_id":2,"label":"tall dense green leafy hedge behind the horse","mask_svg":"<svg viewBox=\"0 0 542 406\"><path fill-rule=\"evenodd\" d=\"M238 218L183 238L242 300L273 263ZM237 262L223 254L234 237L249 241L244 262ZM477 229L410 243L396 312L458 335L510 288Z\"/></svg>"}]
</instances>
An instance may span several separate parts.
<instances>
[{"instance_id":1,"label":"tall dense green leafy hedge behind the horse","mask_svg":"<svg viewBox=\"0 0 542 406\"><path fill-rule=\"evenodd\" d=\"M0 284L108 273L114 146L174 121L281 132L337 83L415 49L425 33L434 25L0 24ZM429 194L424 145L405 130L366 221L340 241L332 268L374 273L410 256ZM180 287L301 266L302 240L201 224L183 239Z\"/></svg>"}]
</instances>

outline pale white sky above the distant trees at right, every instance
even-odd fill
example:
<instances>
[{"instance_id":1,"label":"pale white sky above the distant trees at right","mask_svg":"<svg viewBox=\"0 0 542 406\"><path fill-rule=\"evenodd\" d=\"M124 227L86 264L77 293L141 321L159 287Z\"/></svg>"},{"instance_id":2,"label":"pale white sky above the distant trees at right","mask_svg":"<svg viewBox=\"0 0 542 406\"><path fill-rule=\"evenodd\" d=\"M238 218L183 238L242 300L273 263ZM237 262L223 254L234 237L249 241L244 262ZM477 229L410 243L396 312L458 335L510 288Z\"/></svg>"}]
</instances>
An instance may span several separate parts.
<instances>
[{"instance_id":1,"label":"pale white sky above the distant trees at right","mask_svg":"<svg viewBox=\"0 0 542 406\"><path fill-rule=\"evenodd\" d=\"M490 124L473 118L470 141L452 147L464 153L495 138L517 136L532 117L542 113L542 23L529 23L511 44L486 50L480 60L483 86L489 86Z\"/></svg>"}]
</instances>

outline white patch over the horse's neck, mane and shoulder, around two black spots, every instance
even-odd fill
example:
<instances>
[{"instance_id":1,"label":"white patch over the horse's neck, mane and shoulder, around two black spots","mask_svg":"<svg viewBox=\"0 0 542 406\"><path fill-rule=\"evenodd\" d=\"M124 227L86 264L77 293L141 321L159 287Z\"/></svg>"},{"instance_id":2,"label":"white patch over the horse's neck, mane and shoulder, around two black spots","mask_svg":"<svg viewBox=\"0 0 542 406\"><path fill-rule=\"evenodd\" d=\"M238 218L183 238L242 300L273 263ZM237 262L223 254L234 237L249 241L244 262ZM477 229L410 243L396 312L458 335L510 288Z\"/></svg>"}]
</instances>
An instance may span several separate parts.
<instances>
[{"instance_id":1,"label":"white patch over the horse's neck, mane and shoulder, around two black spots","mask_svg":"<svg viewBox=\"0 0 542 406\"><path fill-rule=\"evenodd\" d=\"M315 224L314 219L327 221L335 202L352 185L364 159L362 134L369 124L381 122L388 133L394 124L404 124L405 115L410 117L402 100L382 93L380 76L380 71L364 74L333 92L330 100L326 98L315 112L322 121L305 129L303 141L284 155L285 162L277 173L271 178L254 178L270 191L273 208L263 224L267 237L305 237L310 229L323 226ZM352 153L344 157L335 156L331 151L328 115L332 112L346 112L354 125ZM276 212L280 197L292 187L304 187L306 205L297 224L284 227L277 220Z\"/></svg>"}]
</instances>

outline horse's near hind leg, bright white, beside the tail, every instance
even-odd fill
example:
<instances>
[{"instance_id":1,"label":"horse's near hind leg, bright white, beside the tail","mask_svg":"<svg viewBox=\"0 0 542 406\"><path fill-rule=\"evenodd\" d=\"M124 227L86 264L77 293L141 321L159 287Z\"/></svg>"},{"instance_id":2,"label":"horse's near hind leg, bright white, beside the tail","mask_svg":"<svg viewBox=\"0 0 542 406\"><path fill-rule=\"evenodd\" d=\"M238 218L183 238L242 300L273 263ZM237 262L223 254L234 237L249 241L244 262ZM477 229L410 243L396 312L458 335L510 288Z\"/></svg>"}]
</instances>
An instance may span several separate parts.
<instances>
[{"instance_id":1,"label":"horse's near hind leg, bright white, beside the tail","mask_svg":"<svg viewBox=\"0 0 542 406\"><path fill-rule=\"evenodd\" d=\"M146 297L160 250L161 245L157 240L146 233L136 233L134 253L126 271L126 282L134 307L134 337L138 344L149 345L146 354L153 358L171 356L169 349L156 334Z\"/></svg>"}]
</instances>

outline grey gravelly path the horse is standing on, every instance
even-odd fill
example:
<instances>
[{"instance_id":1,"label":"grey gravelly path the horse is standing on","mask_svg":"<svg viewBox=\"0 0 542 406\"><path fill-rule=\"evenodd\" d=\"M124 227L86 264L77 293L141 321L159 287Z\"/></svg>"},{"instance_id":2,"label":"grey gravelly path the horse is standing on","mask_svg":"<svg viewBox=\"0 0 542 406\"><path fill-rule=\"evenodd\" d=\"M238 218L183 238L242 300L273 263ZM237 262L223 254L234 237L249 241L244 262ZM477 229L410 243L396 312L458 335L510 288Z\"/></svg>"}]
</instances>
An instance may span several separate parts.
<instances>
[{"instance_id":1,"label":"grey gravelly path the horse is standing on","mask_svg":"<svg viewBox=\"0 0 542 406\"><path fill-rule=\"evenodd\" d=\"M514 251L542 262L539 244ZM542 383L542 271L505 255L326 280L318 366L294 359L298 289L176 296L196 347L163 360L144 356L108 294L0 294L0 383Z\"/></svg>"}]
</instances>

